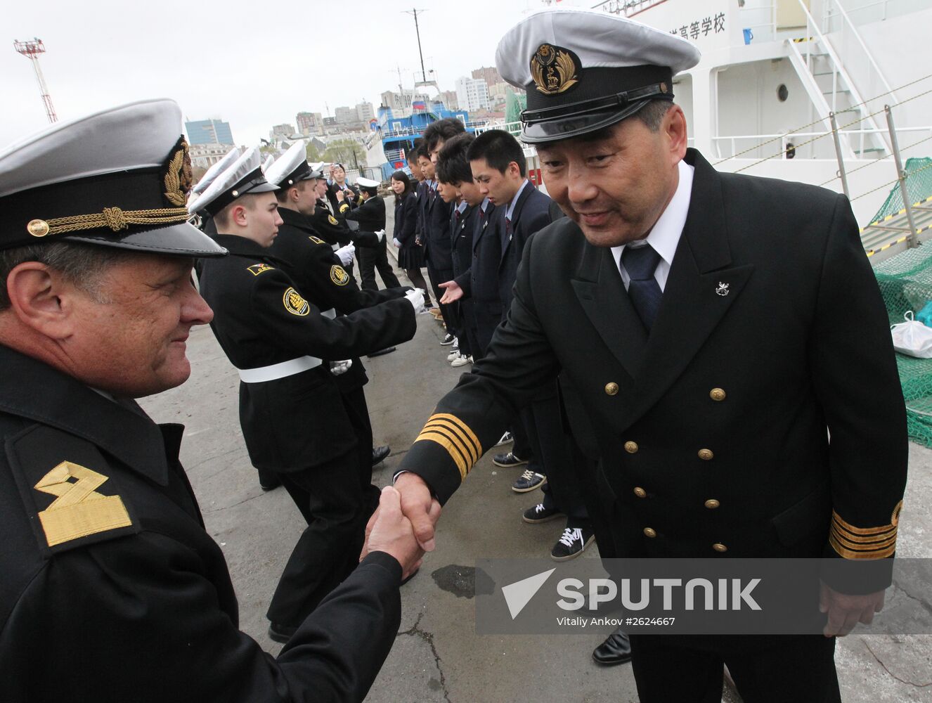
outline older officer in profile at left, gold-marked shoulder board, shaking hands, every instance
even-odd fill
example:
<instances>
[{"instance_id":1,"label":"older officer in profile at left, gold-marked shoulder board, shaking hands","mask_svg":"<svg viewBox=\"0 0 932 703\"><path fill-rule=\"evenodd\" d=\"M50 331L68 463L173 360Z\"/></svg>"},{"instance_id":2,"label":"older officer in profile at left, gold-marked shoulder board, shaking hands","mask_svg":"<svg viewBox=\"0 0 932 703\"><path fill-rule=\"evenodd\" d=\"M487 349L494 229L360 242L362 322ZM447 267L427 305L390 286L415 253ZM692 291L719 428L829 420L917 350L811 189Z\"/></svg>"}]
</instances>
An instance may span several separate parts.
<instances>
[{"instance_id":1,"label":"older officer in profile at left, gold-marked shoulder board, shaking hands","mask_svg":"<svg viewBox=\"0 0 932 703\"><path fill-rule=\"evenodd\" d=\"M192 261L225 254L186 222L181 131L176 103L144 101L0 151L0 697L361 701L419 556L397 497L380 551L272 657L239 630L185 428L133 400L188 378L212 316Z\"/></svg>"}]
</instances>

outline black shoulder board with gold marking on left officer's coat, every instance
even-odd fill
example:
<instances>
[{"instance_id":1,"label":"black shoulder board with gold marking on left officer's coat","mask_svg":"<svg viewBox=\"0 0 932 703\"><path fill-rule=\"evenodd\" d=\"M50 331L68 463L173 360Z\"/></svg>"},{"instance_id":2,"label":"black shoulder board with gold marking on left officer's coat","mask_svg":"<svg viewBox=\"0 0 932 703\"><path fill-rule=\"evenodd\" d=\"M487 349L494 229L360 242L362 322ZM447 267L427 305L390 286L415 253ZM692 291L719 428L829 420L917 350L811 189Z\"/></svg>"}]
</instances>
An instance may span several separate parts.
<instances>
[{"instance_id":1,"label":"black shoulder board with gold marking on left officer's coat","mask_svg":"<svg viewBox=\"0 0 932 703\"><path fill-rule=\"evenodd\" d=\"M88 440L33 425L8 441L7 457L43 553L141 531L118 473Z\"/></svg>"}]
</instances>

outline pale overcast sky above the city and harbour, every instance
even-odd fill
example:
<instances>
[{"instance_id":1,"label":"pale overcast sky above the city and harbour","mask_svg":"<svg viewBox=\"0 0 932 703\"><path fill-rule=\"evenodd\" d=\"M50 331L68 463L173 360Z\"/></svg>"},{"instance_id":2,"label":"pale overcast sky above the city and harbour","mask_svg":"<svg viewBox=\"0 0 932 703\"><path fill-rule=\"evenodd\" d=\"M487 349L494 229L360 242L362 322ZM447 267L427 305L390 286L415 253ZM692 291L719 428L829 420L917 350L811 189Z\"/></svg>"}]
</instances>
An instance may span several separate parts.
<instances>
[{"instance_id":1,"label":"pale overcast sky above the city and harbour","mask_svg":"<svg viewBox=\"0 0 932 703\"><path fill-rule=\"evenodd\" d=\"M495 64L501 34L542 0L18 0L0 13L0 148L48 121L30 62L14 39L45 42L40 60L59 119L154 97L181 104L186 118L220 117L240 145L268 136L295 113L330 115L339 105L378 104L405 88L424 64L441 90ZM563 0L561 7L591 7ZM420 10L426 11L421 13ZM430 76L429 76L430 78ZM419 76L418 76L419 79Z\"/></svg>"}]
</instances>

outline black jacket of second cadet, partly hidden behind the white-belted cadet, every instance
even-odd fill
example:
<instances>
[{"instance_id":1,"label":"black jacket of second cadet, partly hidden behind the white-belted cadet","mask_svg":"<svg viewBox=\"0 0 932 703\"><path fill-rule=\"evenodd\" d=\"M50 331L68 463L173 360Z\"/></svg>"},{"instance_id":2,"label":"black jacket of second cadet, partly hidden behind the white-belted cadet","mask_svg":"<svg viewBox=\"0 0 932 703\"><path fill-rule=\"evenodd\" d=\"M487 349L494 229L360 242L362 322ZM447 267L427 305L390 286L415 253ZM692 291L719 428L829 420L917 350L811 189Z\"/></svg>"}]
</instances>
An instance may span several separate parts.
<instances>
[{"instance_id":1,"label":"black jacket of second cadet, partly hidden behind the white-belted cadet","mask_svg":"<svg viewBox=\"0 0 932 703\"><path fill-rule=\"evenodd\" d=\"M279 208L279 214L283 220L279 236L267 252L283 262L285 273L295 282L301 295L320 308L323 314L330 317L335 313L348 315L385 300L404 297L404 293L411 290L406 287L363 291L352 276L349 280L335 278L331 275L332 269L335 264L340 266L340 260L330 245L317 236L309 218L287 208ZM361 388L368 380L359 358L352 362L348 371L336 377L342 391Z\"/></svg>"}]
</instances>

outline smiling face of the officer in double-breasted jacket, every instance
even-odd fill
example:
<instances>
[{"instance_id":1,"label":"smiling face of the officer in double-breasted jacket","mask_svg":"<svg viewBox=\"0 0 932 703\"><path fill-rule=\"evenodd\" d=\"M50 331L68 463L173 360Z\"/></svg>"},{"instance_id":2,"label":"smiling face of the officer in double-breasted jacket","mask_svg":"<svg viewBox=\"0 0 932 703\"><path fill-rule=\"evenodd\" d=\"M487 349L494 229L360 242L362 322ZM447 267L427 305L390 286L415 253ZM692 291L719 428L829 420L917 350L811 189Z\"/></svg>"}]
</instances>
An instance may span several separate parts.
<instances>
[{"instance_id":1,"label":"smiling face of the officer in double-breasted jacket","mask_svg":"<svg viewBox=\"0 0 932 703\"><path fill-rule=\"evenodd\" d=\"M646 237L676 193L686 120L673 105L658 131L628 117L589 138L538 145L537 152L547 193L585 238L619 246Z\"/></svg>"}]
</instances>

